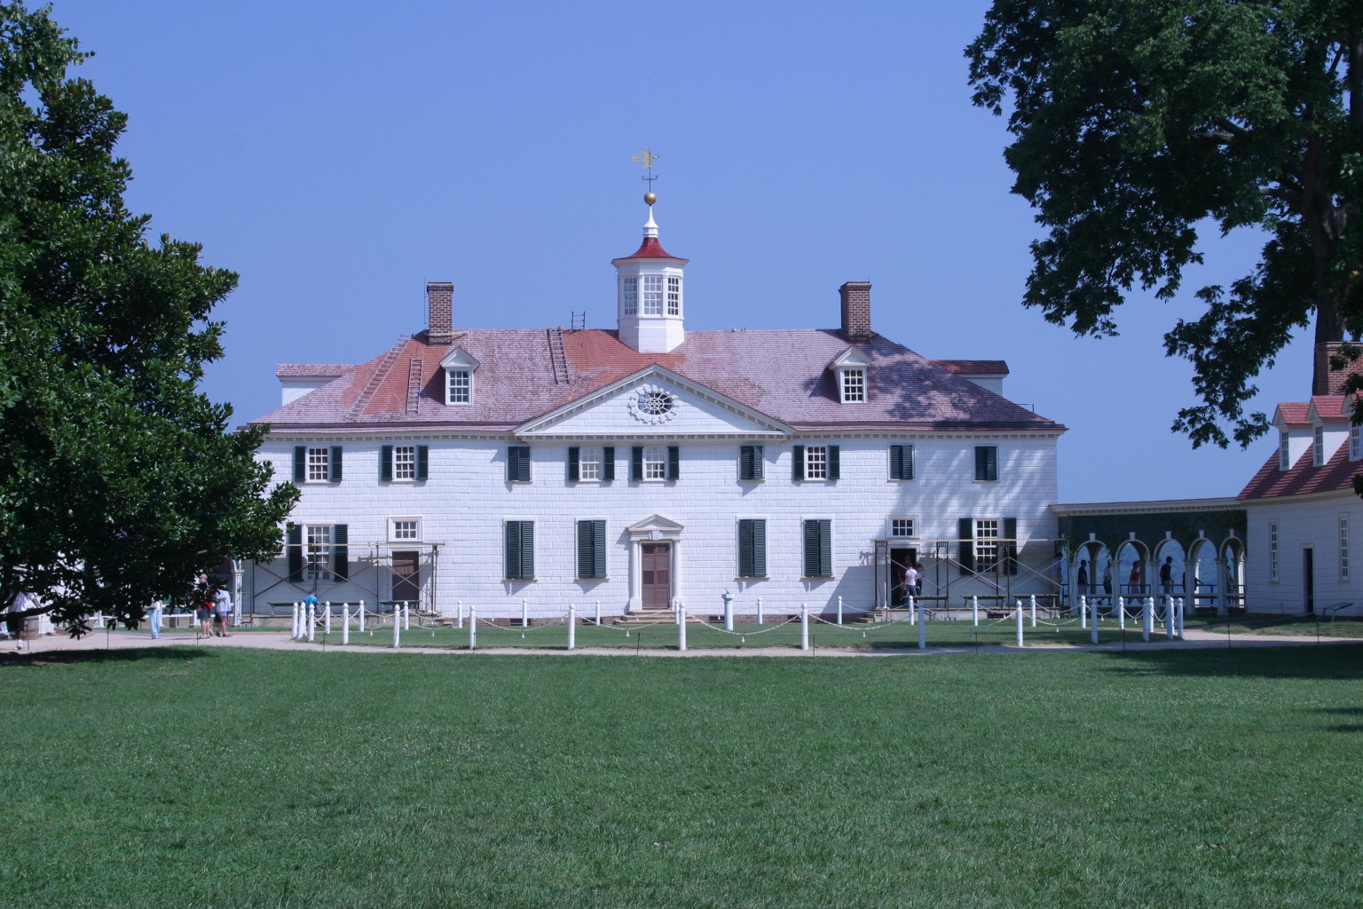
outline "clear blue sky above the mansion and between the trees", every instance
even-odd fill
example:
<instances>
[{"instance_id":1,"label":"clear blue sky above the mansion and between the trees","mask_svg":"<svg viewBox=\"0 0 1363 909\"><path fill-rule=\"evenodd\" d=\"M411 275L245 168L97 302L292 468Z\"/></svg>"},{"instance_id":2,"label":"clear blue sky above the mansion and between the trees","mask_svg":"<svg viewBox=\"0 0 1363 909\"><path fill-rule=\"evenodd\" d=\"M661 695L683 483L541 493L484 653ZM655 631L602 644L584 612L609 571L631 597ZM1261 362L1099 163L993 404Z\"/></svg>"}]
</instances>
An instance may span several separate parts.
<instances>
[{"instance_id":1,"label":"clear blue sky above the mansion and between the trees","mask_svg":"<svg viewBox=\"0 0 1363 909\"><path fill-rule=\"evenodd\" d=\"M457 326L613 327L647 146L688 328L836 327L838 286L870 281L880 334L1006 360L1007 397L1069 427L1063 502L1235 495L1273 442L1172 435L1191 368L1160 338L1255 237L1206 233L1180 298L1131 298L1120 338L1024 309L1037 229L962 57L987 7L55 0L53 18L128 113L129 207L241 274L204 383L234 424L277 406L277 363L358 363L423 328L427 281L454 282ZM1310 343L1259 386L1254 409L1304 399Z\"/></svg>"}]
</instances>

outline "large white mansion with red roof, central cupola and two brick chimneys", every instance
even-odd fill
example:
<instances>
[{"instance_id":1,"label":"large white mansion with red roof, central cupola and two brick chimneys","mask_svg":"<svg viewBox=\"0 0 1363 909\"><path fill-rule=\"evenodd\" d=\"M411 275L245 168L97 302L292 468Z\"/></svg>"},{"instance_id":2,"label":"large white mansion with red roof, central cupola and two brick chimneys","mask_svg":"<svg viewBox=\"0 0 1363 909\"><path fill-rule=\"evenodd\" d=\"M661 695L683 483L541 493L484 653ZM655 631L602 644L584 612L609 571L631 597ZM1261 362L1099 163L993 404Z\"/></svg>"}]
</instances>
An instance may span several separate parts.
<instances>
[{"instance_id":1,"label":"large white mansion with red roof, central cupola and two brick chimneys","mask_svg":"<svg viewBox=\"0 0 1363 909\"><path fill-rule=\"evenodd\" d=\"M245 605L416 601L536 617L600 604L830 612L1056 590L1056 440L1000 361L928 360L871 327L687 331L686 259L616 268L613 330L428 327L358 365L281 365L260 458L301 502Z\"/></svg>"}]
</instances>

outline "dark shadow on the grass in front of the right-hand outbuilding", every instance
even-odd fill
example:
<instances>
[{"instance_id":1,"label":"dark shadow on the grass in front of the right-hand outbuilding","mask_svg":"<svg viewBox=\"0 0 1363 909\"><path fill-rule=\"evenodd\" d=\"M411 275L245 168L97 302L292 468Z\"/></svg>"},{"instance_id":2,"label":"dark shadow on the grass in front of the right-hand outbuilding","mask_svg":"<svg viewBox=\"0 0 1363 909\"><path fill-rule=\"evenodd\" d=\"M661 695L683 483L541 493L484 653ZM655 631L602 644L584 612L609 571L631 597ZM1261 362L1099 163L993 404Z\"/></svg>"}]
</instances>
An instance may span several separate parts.
<instances>
[{"instance_id":1,"label":"dark shadow on the grass in front of the right-hand outbuilding","mask_svg":"<svg viewBox=\"0 0 1363 909\"><path fill-rule=\"evenodd\" d=\"M1111 650L1111 672L1187 679L1363 679L1363 645ZM1343 707L1341 710L1349 710Z\"/></svg>"}]
</instances>

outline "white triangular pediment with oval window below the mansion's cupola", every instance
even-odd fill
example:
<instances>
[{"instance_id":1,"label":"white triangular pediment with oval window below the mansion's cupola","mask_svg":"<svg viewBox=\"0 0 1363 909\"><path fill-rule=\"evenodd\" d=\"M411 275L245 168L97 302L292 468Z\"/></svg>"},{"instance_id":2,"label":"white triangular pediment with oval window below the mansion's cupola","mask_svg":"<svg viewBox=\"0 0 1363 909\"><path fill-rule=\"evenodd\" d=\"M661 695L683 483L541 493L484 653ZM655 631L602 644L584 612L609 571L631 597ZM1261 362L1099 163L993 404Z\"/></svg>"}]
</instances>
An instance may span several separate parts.
<instances>
[{"instance_id":1,"label":"white triangular pediment with oval window below the mansion's cupola","mask_svg":"<svg viewBox=\"0 0 1363 909\"><path fill-rule=\"evenodd\" d=\"M517 429L537 439L782 439L791 427L671 369L649 367Z\"/></svg>"}]
</instances>

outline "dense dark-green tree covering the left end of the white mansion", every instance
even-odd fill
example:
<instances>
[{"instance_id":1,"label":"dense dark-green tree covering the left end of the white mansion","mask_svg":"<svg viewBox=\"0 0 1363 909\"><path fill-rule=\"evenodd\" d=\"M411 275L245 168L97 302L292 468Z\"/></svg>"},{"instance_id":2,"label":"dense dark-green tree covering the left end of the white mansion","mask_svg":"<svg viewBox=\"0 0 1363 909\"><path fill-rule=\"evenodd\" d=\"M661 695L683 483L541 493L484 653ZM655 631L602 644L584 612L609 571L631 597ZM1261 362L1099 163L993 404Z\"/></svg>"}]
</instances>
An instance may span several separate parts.
<instances>
[{"instance_id":1,"label":"dense dark-green tree covering the left end of the white mansion","mask_svg":"<svg viewBox=\"0 0 1363 909\"><path fill-rule=\"evenodd\" d=\"M0 606L72 634L124 623L226 557L273 559L297 489L270 489L263 428L198 391L236 275L146 238L113 157L125 117L67 68L74 38L0 3Z\"/></svg>"}]
</instances>

